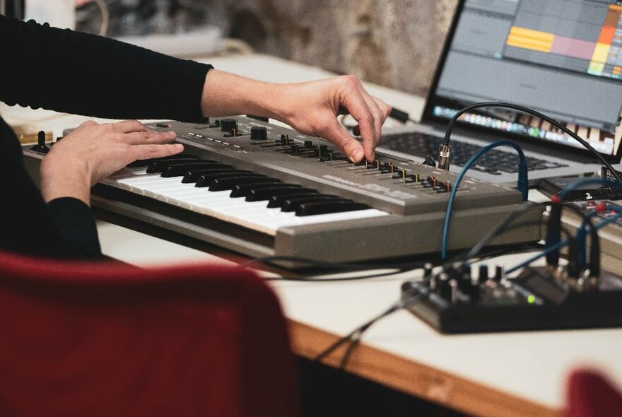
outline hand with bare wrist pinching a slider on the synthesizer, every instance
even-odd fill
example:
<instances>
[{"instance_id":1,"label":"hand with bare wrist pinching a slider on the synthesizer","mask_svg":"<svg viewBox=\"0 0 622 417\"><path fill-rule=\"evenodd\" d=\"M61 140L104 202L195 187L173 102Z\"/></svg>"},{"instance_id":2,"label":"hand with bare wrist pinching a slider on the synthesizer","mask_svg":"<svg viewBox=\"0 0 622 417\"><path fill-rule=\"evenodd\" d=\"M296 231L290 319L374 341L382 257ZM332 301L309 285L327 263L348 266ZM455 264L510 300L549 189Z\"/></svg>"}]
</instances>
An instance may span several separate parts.
<instances>
[{"instance_id":1,"label":"hand with bare wrist pinching a slider on the synthesizer","mask_svg":"<svg viewBox=\"0 0 622 417\"><path fill-rule=\"evenodd\" d=\"M255 114L289 124L303 134L320 136L339 146L351 160L374 160L380 129L391 107L365 91L356 76L306 83L264 83L212 69L201 107L206 117ZM358 122L357 141L341 126L338 114L349 112Z\"/></svg>"}]
</instances>

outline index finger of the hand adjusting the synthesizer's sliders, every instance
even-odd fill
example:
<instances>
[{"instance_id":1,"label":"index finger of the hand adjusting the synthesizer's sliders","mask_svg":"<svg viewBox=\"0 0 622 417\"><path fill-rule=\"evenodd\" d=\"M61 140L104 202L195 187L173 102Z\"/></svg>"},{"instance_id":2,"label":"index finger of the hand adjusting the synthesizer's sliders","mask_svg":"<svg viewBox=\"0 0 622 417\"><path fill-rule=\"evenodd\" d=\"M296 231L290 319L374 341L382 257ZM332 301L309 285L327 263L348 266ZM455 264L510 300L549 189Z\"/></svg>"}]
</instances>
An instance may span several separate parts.
<instances>
[{"instance_id":1,"label":"index finger of the hand adjusting the synthesizer's sliders","mask_svg":"<svg viewBox=\"0 0 622 417\"><path fill-rule=\"evenodd\" d=\"M365 158L374 160L375 143L377 143L377 131L375 129L375 117L367 102L358 89L358 78L346 76L344 89L341 90L341 104L348 109L351 116L358 122L360 136L363 139ZM349 136L349 135L348 135Z\"/></svg>"}]
</instances>

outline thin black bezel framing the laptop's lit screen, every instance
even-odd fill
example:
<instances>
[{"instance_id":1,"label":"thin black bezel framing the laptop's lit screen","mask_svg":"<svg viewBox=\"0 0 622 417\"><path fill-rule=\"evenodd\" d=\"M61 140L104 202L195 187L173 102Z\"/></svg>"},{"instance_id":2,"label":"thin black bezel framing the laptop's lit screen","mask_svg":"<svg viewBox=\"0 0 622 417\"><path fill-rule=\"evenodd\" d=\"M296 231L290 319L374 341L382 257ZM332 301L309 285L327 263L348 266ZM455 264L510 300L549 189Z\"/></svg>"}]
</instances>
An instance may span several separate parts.
<instances>
[{"instance_id":1,"label":"thin black bezel framing the laptop's lit screen","mask_svg":"<svg viewBox=\"0 0 622 417\"><path fill-rule=\"evenodd\" d=\"M425 107L423 107L423 113L421 114L421 121L424 123L447 125L447 122L449 122L448 119L434 115L434 106L435 104L438 103L438 101L436 100L439 100L441 102L450 101L447 98L443 98L442 96L437 95L436 91L438 89L438 83L440 81L442 69L445 67L445 61L447 60L447 56L449 55L451 45L452 45L452 40L454 39L454 35L456 33L458 22L460 20L460 16L462 16L462 11L464 11L464 4L466 1L467 0L458 1L458 4L454 12L454 16L452 18L450 29L447 32L447 36L445 37L445 42L443 42L442 52L438 59L436 69L434 71L432 83L430 83L430 88L428 89L428 94L426 95L426 105ZM577 156L579 155L590 156L591 155L592 158L594 158L594 155L585 148L575 148L573 146L567 146L561 143L553 143L551 141L546 141L546 140L534 141L534 138L531 138L529 136L524 136L522 134L502 131L499 129L493 129L493 128L483 127L483 126L469 124L469 123L459 123L457 124L457 127L459 127L459 129L466 129L466 130L474 131L477 133L486 133L486 134L491 134L494 136L499 136L500 138L503 138L503 139L512 139L512 140L519 141L521 143L525 143L528 145L538 145L538 146L543 146L544 148L561 150L565 153L570 153L570 154L577 155ZM600 153L600 154L609 163L619 163L622 157L622 144L618 146L618 149L615 155L609 155L607 153Z\"/></svg>"}]
</instances>

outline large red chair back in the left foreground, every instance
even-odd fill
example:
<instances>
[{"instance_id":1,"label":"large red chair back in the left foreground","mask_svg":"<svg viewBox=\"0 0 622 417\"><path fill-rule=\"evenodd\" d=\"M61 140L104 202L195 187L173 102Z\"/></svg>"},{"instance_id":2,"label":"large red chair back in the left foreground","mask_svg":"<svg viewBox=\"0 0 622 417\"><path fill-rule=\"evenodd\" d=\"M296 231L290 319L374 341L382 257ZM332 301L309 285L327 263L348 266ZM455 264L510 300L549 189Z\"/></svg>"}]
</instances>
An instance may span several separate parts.
<instances>
[{"instance_id":1,"label":"large red chair back in the left foreground","mask_svg":"<svg viewBox=\"0 0 622 417\"><path fill-rule=\"evenodd\" d=\"M249 271L0 253L1 416L295 416L274 293Z\"/></svg>"}]
</instances>

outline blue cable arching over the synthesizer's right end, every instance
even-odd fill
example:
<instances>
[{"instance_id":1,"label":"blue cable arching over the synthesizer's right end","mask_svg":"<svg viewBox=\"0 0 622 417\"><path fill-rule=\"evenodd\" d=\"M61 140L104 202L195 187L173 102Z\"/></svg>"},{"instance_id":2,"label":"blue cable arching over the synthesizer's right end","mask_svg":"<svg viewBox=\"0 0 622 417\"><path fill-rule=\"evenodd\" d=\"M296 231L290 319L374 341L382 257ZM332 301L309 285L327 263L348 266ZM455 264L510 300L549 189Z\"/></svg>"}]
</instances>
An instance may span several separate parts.
<instances>
[{"instance_id":1,"label":"blue cable arching over the synthesizer's right end","mask_svg":"<svg viewBox=\"0 0 622 417\"><path fill-rule=\"evenodd\" d=\"M447 238L450 231L450 219L452 217L452 209L454 206L454 199L456 198L456 192L458 191L458 186L462 181L462 177L464 177L464 174L467 172L467 170L471 168L471 165L473 165L476 160L481 157L481 155L490 151L493 148L497 148L498 146L511 146L512 148L516 149L519 157L517 189L522 193L522 201L527 201L527 196L529 194L529 182L527 180L527 160L525 159L524 153L520 146L512 141L498 141L481 148L475 153L475 155L471 156L471 159L469 159L466 164L464 164L464 167L462 167L462 170L460 170L460 172L458 173L454 186L452 187L449 201L447 201L447 210L445 211L445 223L442 226L442 238L440 242L441 259L447 258Z\"/></svg>"}]
</instances>

